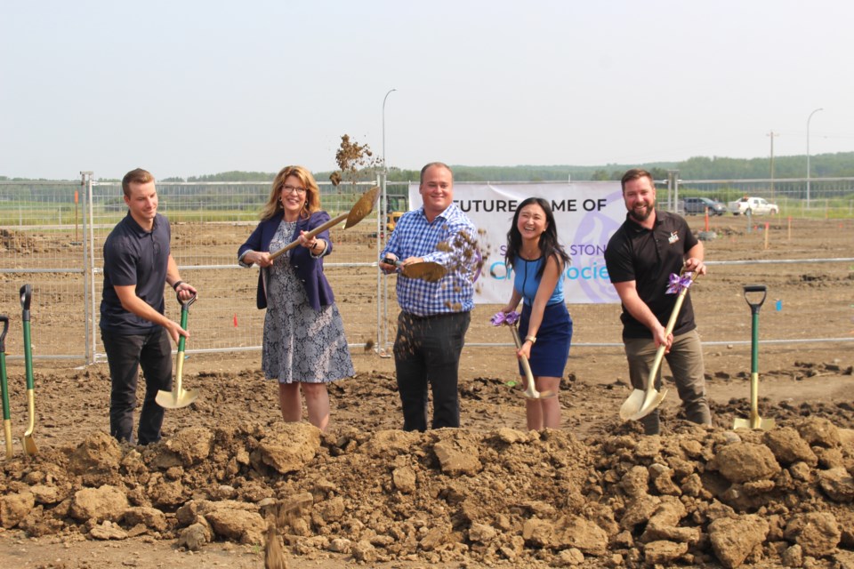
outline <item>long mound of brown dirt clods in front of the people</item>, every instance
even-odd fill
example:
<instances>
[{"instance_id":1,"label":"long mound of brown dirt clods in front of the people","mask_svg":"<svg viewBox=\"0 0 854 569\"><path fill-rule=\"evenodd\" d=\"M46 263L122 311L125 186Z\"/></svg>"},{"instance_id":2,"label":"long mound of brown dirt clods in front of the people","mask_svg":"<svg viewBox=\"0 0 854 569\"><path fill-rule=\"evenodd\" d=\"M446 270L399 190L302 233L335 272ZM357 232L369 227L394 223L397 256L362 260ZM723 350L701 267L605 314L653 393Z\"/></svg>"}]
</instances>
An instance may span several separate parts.
<instances>
[{"instance_id":1,"label":"long mound of brown dirt clods in front of the people","mask_svg":"<svg viewBox=\"0 0 854 569\"><path fill-rule=\"evenodd\" d=\"M624 425L584 441L281 421L193 426L146 447L94 432L5 461L0 525L195 550L262 545L272 524L291 555L365 563L845 565L854 431L789 417L767 432L668 418L662 437Z\"/></svg>"}]
</instances>

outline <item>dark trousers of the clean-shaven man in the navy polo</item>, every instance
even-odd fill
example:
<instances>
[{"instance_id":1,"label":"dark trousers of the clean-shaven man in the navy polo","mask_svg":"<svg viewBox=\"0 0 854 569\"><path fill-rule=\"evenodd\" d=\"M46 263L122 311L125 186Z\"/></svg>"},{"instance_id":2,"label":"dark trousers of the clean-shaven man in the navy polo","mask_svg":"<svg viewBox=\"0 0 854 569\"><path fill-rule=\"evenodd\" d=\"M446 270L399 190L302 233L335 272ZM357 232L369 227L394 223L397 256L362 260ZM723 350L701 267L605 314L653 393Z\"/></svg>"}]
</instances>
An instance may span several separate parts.
<instances>
[{"instance_id":1,"label":"dark trousers of the clean-shaven man in the navy polo","mask_svg":"<svg viewBox=\"0 0 854 569\"><path fill-rule=\"evenodd\" d=\"M157 405L157 391L172 389L172 342L165 328L157 326L149 334L121 336L101 332L107 352L109 379L109 433L119 441L134 444L133 409L136 384L142 368L145 398L137 432L140 445L157 443L165 410Z\"/></svg>"}]
</instances>

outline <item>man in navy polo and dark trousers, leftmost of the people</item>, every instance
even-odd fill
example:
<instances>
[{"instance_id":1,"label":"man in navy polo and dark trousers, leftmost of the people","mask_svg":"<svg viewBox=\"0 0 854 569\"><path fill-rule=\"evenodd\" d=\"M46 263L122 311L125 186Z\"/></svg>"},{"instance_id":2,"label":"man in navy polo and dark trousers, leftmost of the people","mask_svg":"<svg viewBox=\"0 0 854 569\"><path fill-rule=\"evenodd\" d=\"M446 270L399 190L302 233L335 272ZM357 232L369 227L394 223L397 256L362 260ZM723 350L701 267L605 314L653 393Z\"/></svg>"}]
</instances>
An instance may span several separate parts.
<instances>
[{"instance_id":1,"label":"man in navy polo and dark trousers, leftmost of the people","mask_svg":"<svg viewBox=\"0 0 854 569\"><path fill-rule=\"evenodd\" d=\"M101 341L107 352L109 432L134 444L133 408L139 368L145 376L145 399L136 440L140 445L160 440L164 409L157 391L172 389L172 345L189 337L181 325L164 316L164 284L182 301L196 289L181 281L169 250L169 220L157 213L157 188L150 172L141 168L122 180L127 215L104 243L104 291L101 298Z\"/></svg>"}]
</instances>

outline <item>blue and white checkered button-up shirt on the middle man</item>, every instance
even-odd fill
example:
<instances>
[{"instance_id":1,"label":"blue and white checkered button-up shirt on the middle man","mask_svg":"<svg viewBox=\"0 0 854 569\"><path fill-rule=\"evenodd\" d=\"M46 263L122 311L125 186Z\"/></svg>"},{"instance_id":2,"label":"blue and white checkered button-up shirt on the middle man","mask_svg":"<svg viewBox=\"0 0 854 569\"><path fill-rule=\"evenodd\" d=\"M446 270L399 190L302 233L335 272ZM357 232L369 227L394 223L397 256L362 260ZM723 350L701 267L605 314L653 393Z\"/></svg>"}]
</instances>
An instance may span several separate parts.
<instances>
[{"instance_id":1,"label":"blue and white checkered button-up shirt on the middle man","mask_svg":"<svg viewBox=\"0 0 854 569\"><path fill-rule=\"evenodd\" d=\"M474 308L477 229L456 204L448 205L432 223L427 221L423 207L406 212L391 232L383 257L387 252L399 260L421 257L447 270L436 283L398 275L398 304L404 312L429 317Z\"/></svg>"}]
</instances>

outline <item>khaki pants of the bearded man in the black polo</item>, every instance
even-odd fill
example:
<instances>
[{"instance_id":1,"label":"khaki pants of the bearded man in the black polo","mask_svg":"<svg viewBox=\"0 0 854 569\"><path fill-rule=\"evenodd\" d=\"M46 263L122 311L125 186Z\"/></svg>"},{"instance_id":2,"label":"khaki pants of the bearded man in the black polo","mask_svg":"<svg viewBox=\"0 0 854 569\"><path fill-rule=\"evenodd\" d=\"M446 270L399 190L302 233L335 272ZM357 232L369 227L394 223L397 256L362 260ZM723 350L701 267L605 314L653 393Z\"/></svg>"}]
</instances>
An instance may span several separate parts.
<instances>
[{"instance_id":1,"label":"khaki pants of the bearded man in the black polo","mask_svg":"<svg viewBox=\"0 0 854 569\"><path fill-rule=\"evenodd\" d=\"M646 378L649 377L649 369L656 359L656 343L646 338L627 338L624 339L624 345L632 387L646 389ZM703 349L697 330L674 336L673 346L670 353L665 355L665 360L673 373L686 418L701 425L711 425L712 413L709 412L709 404L705 398ZM661 389L660 367L655 385L656 389ZM658 410L641 419L641 424L647 435L657 435L660 430Z\"/></svg>"}]
</instances>

